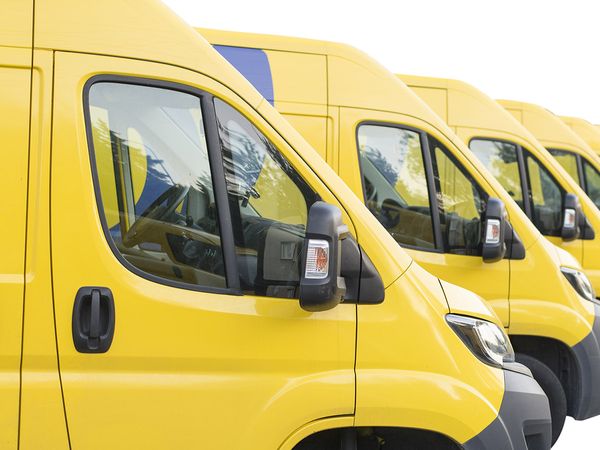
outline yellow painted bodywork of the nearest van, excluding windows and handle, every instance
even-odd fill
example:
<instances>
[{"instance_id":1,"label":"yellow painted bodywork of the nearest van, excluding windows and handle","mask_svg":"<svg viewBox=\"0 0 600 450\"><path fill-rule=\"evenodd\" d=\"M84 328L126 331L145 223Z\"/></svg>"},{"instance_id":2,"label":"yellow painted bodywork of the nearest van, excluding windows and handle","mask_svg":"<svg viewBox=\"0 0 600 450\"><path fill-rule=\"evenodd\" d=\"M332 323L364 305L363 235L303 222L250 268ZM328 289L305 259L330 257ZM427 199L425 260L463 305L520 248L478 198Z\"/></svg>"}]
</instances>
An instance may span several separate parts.
<instances>
[{"instance_id":1,"label":"yellow painted bodywork of the nearest van, excluding windows and handle","mask_svg":"<svg viewBox=\"0 0 600 450\"><path fill-rule=\"evenodd\" d=\"M17 9L15 23L23 17ZM6 25L0 44L12 48L0 47L9 62L0 67L0 108L13 152L0 177L12 193L0 314L2 448L17 447L20 365L23 449L291 448L311 430L341 425L426 428L463 442L496 418L502 371L477 360L445 323L449 303L499 324L496 315L473 294L449 285L444 292L319 153L160 2L37 0L35 33L11 40ZM386 301L308 313L290 299L188 291L127 270L102 231L90 170L82 99L98 74L175 82L225 99L342 209ZM338 142L340 111L321 99L305 106L322 119L315 142L335 162L329 147ZM143 154L141 137L128 137ZM132 173L134 191L141 172ZM108 203L118 196L110 182L100 182ZM109 286L115 297L116 333L105 354L73 346L81 286ZM406 351L400 357L382 342L407 343Z\"/></svg>"}]
</instances>

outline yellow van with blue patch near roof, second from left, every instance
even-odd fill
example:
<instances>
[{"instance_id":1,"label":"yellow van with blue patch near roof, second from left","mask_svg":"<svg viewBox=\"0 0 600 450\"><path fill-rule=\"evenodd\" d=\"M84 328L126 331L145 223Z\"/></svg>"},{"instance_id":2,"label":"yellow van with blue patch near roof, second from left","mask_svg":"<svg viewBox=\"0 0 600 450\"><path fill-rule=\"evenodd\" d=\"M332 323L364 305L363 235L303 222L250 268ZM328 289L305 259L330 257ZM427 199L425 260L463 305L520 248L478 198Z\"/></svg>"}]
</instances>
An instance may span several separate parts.
<instances>
[{"instance_id":1,"label":"yellow van with blue patch near roof, second from left","mask_svg":"<svg viewBox=\"0 0 600 450\"><path fill-rule=\"evenodd\" d=\"M554 439L565 413L600 413L600 308L578 284L579 264L541 236L427 105L346 45L200 32L420 265L490 302L550 394Z\"/></svg>"}]
</instances>

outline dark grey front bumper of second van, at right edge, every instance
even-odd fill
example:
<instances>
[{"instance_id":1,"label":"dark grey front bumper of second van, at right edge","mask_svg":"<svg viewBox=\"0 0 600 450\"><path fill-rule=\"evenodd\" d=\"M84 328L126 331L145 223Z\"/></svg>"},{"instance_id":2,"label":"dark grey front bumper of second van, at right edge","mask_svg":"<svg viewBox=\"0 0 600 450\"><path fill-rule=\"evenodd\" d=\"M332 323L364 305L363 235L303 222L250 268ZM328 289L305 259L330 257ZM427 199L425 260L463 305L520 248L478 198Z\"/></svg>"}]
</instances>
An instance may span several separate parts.
<instances>
[{"instance_id":1,"label":"dark grey front bumper of second van, at right edge","mask_svg":"<svg viewBox=\"0 0 600 450\"><path fill-rule=\"evenodd\" d=\"M577 364L577 389L569 415L585 420L600 415L600 305L596 304L592 331L571 347Z\"/></svg>"}]
</instances>

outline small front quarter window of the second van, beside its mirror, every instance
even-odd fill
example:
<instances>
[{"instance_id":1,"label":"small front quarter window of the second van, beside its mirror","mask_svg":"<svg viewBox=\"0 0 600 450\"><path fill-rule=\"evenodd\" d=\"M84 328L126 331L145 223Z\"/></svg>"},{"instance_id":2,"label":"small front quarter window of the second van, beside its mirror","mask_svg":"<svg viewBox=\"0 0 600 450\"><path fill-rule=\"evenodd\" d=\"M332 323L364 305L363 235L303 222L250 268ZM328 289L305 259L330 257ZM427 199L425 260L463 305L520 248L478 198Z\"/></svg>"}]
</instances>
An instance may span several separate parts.
<instances>
[{"instance_id":1,"label":"small front quarter window of the second van, beside its mirror","mask_svg":"<svg viewBox=\"0 0 600 450\"><path fill-rule=\"evenodd\" d=\"M445 249L448 253L480 256L487 195L437 139L430 136L429 144Z\"/></svg>"}]
</instances>

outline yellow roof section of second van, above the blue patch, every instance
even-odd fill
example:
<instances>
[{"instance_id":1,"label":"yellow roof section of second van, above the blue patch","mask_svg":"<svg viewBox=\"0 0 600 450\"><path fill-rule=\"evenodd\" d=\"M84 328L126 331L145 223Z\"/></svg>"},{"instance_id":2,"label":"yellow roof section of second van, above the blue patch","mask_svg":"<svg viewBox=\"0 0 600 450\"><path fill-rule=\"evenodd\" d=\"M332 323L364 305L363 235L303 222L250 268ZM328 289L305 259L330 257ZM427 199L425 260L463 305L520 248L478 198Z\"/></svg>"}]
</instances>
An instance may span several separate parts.
<instances>
[{"instance_id":1,"label":"yellow roof section of second van, above the blue patch","mask_svg":"<svg viewBox=\"0 0 600 450\"><path fill-rule=\"evenodd\" d=\"M214 45L326 55L328 74L333 80L327 86L330 105L401 112L419 117L441 130L447 127L425 102L389 70L351 45L202 28L198 31ZM361 89L357 89L357 86ZM399 105L402 106L401 110Z\"/></svg>"}]
</instances>

